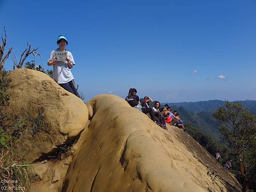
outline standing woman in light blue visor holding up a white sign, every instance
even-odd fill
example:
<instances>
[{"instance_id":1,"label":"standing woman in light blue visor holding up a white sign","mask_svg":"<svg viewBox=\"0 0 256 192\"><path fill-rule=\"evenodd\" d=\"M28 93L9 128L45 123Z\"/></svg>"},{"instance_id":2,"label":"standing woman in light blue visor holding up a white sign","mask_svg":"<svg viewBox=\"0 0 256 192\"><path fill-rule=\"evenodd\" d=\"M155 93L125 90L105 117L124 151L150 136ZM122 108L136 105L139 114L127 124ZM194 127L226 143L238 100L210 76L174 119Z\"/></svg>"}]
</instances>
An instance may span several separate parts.
<instances>
[{"instance_id":1,"label":"standing woman in light blue visor holding up a white sign","mask_svg":"<svg viewBox=\"0 0 256 192\"><path fill-rule=\"evenodd\" d=\"M71 68L75 65L75 61L72 53L66 49L66 45L68 44L67 38L63 35L58 36L57 44L59 48L50 53L47 62L49 66L53 65L54 80L62 88L81 98L77 92L75 80L71 73ZM61 58L63 59L61 60Z\"/></svg>"}]
</instances>

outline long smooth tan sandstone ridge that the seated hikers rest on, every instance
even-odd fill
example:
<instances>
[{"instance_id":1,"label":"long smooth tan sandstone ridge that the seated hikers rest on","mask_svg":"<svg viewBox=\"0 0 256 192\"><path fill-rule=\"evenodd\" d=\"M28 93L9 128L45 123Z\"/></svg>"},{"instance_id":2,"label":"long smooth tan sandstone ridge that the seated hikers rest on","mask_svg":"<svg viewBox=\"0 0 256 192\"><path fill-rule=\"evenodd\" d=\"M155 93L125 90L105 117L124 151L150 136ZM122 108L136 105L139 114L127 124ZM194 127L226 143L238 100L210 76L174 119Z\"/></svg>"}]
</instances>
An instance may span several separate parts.
<instances>
[{"instance_id":1,"label":"long smooth tan sandstone ridge that the seated hikers rest on","mask_svg":"<svg viewBox=\"0 0 256 192\"><path fill-rule=\"evenodd\" d=\"M211 180L203 162L209 161L211 169L217 164L198 143L190 150L183 142L189 136L176 133L178 128L164 131L148 116L113 95L95 96L87 106L91 122L84 144L69 166L62 192L241 189L229 173ZM207 160L200 160L193 151L199 151Z\"/></svg>"}]
</instances>

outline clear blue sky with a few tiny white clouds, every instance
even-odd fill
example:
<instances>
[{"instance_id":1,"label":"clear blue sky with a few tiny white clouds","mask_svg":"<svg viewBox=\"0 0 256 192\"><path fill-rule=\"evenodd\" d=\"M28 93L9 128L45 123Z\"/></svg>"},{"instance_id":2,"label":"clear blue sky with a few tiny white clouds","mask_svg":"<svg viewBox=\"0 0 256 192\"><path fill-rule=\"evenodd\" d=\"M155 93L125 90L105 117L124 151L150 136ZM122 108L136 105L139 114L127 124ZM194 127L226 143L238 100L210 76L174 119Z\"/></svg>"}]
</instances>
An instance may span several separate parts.
<instances>
[{"instance_id":1,"label":"clear blue sky with a few tiny white clouds","mask_svg":"<svg viewBox=\"0 0 256 192\"><path fill-rule=\"evenodd\" d=\"M0 33L17 56L39 47L46 69L65 35L86 100L131 87L160 102L256 100L255 10L256 0L0 0Z\"/></svg>"}]
</instances>

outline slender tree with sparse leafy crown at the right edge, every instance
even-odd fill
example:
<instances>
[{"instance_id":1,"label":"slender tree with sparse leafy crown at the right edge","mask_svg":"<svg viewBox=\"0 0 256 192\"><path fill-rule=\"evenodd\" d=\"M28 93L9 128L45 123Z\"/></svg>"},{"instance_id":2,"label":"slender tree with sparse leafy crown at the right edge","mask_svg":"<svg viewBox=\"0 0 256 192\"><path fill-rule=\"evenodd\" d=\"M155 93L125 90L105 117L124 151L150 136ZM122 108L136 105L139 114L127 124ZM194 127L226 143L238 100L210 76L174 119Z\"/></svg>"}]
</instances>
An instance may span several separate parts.
<instances>
[{"instance_id":1,"label":"slender tree with sparse leafy crown at the right edge","mask_svg":"<svg viewBox=\"0 0 256 192\"><path fill-rule=\"evenodd\" d=\"M256 116L253 116L240 102L226 101L212 116L218 121L224 139L235 149L239 160L243 191L246 191L247 154L253 149L256 139ZM249 161L248 161L249 163Z\"/></svg>"}]
</instances>

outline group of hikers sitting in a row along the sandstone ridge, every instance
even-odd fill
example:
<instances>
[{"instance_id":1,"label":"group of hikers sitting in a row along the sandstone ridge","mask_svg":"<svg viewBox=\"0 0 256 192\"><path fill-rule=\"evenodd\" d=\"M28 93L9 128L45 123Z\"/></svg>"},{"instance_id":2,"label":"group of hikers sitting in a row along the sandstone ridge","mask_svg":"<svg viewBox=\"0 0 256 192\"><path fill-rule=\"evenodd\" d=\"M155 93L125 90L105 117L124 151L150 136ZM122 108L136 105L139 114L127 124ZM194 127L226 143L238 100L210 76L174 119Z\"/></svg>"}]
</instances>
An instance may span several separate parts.
<instances>
[{"instance_id":1,"label":"group of hikers sitting in a row along the sandstone ridge","mask_svg":"<svg viewBox=\"0 0 256 192\"><path fill-rule=\"evenodd\" d=\"M143 103L140 104L140 98L136 94L137 90L135 88L131 88L128 96L125 98L131 107L137 108L145 114L149 113L152 121L157 123L157 125L165 130L168 130L166 123L175 125L183 131L185 130L184 122L180 119L177 111L172 113L172 109L167 104L163 108L160 108L160 102L158 101L154 103L153 108L150 108L149 105L153 102L153 100L149 96L145 96Z\"/></svg>"}]
</instances>

